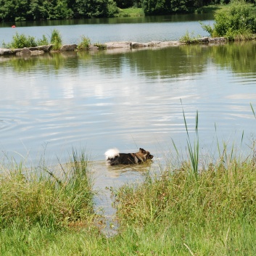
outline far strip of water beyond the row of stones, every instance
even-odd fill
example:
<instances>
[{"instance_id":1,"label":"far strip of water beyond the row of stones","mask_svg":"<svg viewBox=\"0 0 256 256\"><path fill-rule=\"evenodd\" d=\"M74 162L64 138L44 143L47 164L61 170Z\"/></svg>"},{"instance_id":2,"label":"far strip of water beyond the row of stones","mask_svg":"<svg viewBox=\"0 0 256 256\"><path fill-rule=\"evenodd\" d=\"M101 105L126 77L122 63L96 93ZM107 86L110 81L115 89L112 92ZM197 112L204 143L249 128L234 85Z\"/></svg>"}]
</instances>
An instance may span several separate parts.
<instances>
[{"instance_id":1,"label":"far strip of water beyond the row of stones","mask_svg":"<svg viewBox=\"0 0 256 256\"><path fill-rule=\"evenodd\" d=\"M212 24L212 15L173 15L157 17L126 17L91 20L55 20L40 22L0 23L0 44L9 43L15 33L42 38L50 36L56 28L62 34L64 44L78 44L80 36L87 36L91 43L109 41L175 41L186 31L195 36L207 36L199 20Z\"/></svg>"}]
</instances>

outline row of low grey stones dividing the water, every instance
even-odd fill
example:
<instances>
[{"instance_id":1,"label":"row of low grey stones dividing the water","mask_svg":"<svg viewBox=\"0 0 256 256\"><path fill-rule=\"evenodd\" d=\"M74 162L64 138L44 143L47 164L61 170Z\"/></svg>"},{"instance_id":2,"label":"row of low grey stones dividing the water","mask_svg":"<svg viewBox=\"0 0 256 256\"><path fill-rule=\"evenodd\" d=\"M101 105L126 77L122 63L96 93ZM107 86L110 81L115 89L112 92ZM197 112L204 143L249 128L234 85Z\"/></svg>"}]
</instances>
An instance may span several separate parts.
<instances>
[{"instance_id":1,"label":"row of low grey stones dividing the water","mask_svg":"<svg viewBox=\"0 0 256 256\"><path fill-rule=\"evenodd\" d=\"M223 44L226 43L226 38L210 38L204 37L199 38L194 43L198 44ZM132 49L145 49L145 48L165 48L170 46L181 46L186 43L181 41L152 41L149 43L136 43L136 42L109 42L103 44L106 46L107 50L112 49L125 49L125 50L132 50ZM34 55L41 55L46 52L52 51L52 44L47 46L36 46L36 47L28 47L22 49L5 49L0 48L0 56L1 55L16 55L16 56L34 56ZM65 44L59 51L76 51L78 46L76 44ZM97 46L90 46L89 51L97 51L99 48Z\"/></svg>"}]
</instances>

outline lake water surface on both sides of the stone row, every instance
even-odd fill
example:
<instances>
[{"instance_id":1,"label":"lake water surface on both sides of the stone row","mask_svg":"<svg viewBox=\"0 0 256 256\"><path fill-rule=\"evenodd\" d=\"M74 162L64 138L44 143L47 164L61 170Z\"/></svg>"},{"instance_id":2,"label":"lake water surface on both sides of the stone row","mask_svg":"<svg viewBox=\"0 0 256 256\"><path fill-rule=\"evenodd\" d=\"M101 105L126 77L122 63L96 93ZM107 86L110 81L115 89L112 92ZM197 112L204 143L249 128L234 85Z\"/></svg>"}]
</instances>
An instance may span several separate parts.
<instances>
[{"instance_id":1,"label":"lake water surface on both sides of the stone row","mask_svg":"<svg viewBox=\"0 0 256 256\"><path fill-rule=\"evenodd\" d=\"M182 34L192 31L195 24L102 22L67 25L68 29L59 25L58 29L66 31L62 35L67 43L83 34L88 25L94 27L91 31L98 31L96 36L108 27L115 35L113 40L151 41L162 40L158 38L160 31L151 26L166 30L176 23L184 23L179 29ZM31 26L28 30L41 34L44 28ZM48 26L47 30L51 28ZM147 36L133 38L133 28ZM25 31L27 27L19 29ZM7 35L7 31L13 30L0 28L1 35ZM166 39L176 40L176 33L169 31ZM111 34L110 30L107 34ZM235 143L247 152L256 128L250 107L252 104L256 110L255 56L256 42L251 41L222 46L46 54L26 59L1 57L1 157L24 157L36 165L45 154L46 162L55 165L57 157L61 162L67 161L72 148L86 149L93 160L95 186L104 190L105 186L135 181L147 169L107 167L107 149L135 152L143 147L154 154L151 168L157 170L165 162L165 154L175 154L172 141L186 156L183 111L193 139L197 110L200 154L215 157L217 138L220 144L222 140ZM110 193L106 193L109 197ZM108 200L99 199L97 204L105 207ZM104 210L112 212L111 207Z\"/></svg>"}]
</instances>

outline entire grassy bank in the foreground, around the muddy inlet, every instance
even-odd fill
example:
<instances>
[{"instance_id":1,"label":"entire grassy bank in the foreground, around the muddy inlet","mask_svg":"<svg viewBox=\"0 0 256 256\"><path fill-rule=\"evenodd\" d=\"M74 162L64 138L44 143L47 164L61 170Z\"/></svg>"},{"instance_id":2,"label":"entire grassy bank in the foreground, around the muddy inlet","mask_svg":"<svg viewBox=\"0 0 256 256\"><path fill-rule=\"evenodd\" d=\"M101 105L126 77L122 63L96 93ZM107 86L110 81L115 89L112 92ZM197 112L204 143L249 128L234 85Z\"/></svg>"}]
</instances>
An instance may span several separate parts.
<instances>
[{"instance_id":1,"label":"entire grassy bank in the foreground, around the muddy inlet","mask_svg":"<svg viewBox=\"0 0 256 256\"><path fill-rule=\"evenodd\" d=\"M114 189L120 228L112 237L102 234L92 210L95 192L84 153L74 152L68 168L61 165L62 176L46 167L28 176L22 163L10 165L0 175L0 253L253 255L255 147L245 159L238 151L220 152L215 162L200 165L197 176L191 159L168 160L160 177ZM198 161L206 162L202 156Z\"/></svg>"}]
</instances>

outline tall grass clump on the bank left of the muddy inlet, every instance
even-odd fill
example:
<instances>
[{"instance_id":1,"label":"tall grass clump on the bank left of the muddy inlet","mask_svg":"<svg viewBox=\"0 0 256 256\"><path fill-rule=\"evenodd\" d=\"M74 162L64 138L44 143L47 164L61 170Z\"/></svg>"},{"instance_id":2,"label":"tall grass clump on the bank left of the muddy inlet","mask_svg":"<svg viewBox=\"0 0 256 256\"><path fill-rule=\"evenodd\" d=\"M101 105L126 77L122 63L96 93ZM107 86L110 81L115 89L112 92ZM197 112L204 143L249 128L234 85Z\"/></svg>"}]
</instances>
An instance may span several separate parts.
<instances>
[{"instance_id":1,"label":"tall grass clump on the bank left of the muddy inlet","mask_svg":"<svg viewBox=\"0 0 256 256\"><path fill-rule=\"evenodd\" d=\"M62 228L93 216L92 179L84 153L59 171L12 162L0 172L0 227Z\"/></svg>"}]
</instances>

